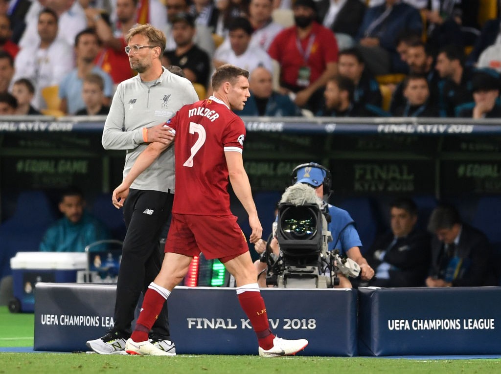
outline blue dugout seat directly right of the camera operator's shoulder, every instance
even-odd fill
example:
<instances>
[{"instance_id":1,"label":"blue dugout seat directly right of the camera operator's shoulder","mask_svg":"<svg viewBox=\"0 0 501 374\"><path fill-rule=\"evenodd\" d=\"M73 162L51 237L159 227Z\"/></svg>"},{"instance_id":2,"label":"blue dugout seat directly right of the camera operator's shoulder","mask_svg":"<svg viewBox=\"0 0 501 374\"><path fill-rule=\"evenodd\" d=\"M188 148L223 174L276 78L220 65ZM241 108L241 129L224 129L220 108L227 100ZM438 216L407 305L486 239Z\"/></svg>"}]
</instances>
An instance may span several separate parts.
<instances>
[{"instance_id":1,"label":"blue dugout seat directly right of the camera operator's shoulder","mask_svg":"<svg viewBox=\"0 0 501 374\"><path fill-rule=\"evenodd\" d=\"M372 245L381 223L374 203L368 197L351 197L343 200L338 206L348 211L355 221L362 240L363 253Z\"/></svg>"}]
</instances>

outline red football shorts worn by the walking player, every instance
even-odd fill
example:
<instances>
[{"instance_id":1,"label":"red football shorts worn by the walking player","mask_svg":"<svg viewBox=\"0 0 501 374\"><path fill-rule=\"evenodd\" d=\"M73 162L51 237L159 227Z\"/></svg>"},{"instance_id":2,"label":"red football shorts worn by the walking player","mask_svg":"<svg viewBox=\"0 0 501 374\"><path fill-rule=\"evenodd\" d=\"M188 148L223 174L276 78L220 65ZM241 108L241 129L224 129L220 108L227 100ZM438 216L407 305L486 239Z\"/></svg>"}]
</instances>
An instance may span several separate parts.
<instances>
[{"instance_id":1,"label":"red football shorts worn by the walking player","mask_svg":"<svg viewBox=\"0 0 501 374\"><path fill-rule=\"evenodd\" d=\"M248 251L247 240L234 215L200 216L172 213L165 252L226 262Z\"/></svg>"}]
</instances>

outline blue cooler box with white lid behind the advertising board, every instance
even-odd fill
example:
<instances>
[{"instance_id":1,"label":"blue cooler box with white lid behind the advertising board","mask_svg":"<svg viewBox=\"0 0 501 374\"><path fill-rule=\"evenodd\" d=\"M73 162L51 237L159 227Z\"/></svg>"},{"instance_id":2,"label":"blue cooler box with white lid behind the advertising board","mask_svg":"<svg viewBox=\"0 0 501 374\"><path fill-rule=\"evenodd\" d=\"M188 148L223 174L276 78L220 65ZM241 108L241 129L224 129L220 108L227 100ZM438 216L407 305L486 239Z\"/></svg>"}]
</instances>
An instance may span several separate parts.
<instances>
[{"instance_id":1,"label":"blue cooler box with white lid behind the advertising board","mask_svg":"<svg viewBox=\"0 0 501 374\"><path fill-rule=\"evenodd\" d=\"M14 299L11 312L35 310L35 283L76 282L77 271L87 268L85 252L18 252L11 258Z\"/></svg>"}]
</instances>

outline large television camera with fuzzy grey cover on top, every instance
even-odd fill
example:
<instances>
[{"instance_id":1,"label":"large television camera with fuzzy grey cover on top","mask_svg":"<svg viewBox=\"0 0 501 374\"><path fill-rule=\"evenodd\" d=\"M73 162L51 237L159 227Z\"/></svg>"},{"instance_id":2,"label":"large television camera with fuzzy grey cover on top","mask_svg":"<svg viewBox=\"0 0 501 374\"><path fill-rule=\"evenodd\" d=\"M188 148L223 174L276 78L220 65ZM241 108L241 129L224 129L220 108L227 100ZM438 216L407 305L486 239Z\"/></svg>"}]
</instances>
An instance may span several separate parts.
<instances>
[{"instance_id":1,"label":"large television camera with fuzzy grey cover on top","mask_svg":"<svg viewBox=\"0 0 501 374\"><path fill-rule=\"evenodd\" d=\"M277 256L267 245L266 283L283 288L331 288L339 284L338 272L356 277L360 266L339 250L328 250L328 205L315 190L303 183L285 191L279 204L278 221L269 241L276 237Z\"/></svg>"}]
</instances>

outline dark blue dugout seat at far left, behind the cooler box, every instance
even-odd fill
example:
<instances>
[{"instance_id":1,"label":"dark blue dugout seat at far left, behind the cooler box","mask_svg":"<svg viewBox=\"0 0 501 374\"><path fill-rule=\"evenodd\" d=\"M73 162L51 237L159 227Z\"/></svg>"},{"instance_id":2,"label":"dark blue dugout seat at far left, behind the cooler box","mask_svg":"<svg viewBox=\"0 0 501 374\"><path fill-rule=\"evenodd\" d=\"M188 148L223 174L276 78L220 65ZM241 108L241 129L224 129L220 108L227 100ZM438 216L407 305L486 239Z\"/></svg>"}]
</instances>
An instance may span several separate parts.
<instances>
[{"instance_id":1,"label":"dark blue dugout seat at far left, behind the cooler box","mask_svg":"<svg viewBox=\"0 0 501 374\"><path fill-rule=\"evenodd\" d=\"M10 259L17 252L39 250L45 231L56 217L44 192L26 191L19 194L14 215L0 225L0 276L10 275Z\"/></svg>"}]
</instances>

